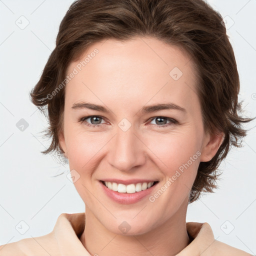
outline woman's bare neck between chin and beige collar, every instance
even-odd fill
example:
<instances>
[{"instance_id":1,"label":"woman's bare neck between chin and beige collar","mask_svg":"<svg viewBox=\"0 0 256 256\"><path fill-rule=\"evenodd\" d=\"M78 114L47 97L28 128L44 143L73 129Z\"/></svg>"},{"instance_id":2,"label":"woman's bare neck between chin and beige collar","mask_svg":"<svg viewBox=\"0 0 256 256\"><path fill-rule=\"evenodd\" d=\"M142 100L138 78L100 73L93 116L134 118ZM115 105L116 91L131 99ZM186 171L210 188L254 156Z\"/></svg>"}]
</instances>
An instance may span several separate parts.
<instances>
[{"instance_id":1,"label":"woman's bare neck between chin and beige collar","mask_svg":"<svg viewBox=\"0 0 256 256\"><path fill-rule=\"evenodd\" d=\"M120 235L107 230L86 208L80 240L91 255L176 255L189 244L186 231L187 202L163 224L140 235Z\"/></svg>"}]
</instances>

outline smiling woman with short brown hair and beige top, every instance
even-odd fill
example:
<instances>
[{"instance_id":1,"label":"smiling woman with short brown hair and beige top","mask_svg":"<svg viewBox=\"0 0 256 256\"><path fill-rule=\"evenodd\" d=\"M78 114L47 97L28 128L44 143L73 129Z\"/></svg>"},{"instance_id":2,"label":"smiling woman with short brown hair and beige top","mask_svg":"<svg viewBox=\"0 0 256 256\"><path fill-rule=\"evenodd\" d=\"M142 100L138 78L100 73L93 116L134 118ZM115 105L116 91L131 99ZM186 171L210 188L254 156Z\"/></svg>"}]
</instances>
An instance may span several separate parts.
<instances>
[{"instance_id":1,"label":"smiling woman with short brown hair and beige top","mask_svg":"<svg viewBox=\"0 0 256 256\"><path fill-rule=\"evenodd\" d=\"M202 0L78 0L32 102L47 106L85 214L1 255L249 255L187 222L246 135L222 17Z\"/></svg>"}]
</instances>

